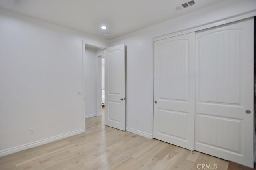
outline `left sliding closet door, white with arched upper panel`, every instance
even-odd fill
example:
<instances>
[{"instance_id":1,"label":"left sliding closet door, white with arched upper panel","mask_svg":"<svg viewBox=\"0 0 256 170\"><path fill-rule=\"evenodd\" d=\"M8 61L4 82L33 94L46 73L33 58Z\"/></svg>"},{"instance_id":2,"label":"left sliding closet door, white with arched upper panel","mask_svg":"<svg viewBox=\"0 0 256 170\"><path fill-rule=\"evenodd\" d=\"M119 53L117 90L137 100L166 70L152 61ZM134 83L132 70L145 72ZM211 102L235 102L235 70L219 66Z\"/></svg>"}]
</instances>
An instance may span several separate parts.
<instances>
[{"instance_id":1,"label":"left sliding closet door, white with arched upper panel","mask_svg":"<svg viewBox=\"0 0 256 170\"><path fill-rule=\"evenodd\" d=\"M195 32L154 42L153 137L194 150Z\"/></svg>"}]
</instances>

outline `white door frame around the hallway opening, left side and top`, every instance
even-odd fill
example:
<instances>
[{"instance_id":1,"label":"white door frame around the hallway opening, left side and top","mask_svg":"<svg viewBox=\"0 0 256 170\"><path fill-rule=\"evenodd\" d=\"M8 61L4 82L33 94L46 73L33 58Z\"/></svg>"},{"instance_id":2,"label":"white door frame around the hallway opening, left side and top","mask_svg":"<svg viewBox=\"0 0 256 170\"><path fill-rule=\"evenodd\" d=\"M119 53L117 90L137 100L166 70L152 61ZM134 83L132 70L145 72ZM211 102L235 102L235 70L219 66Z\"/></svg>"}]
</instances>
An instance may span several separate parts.
<instances>
[{"instance_id":1,"label":"white door frame around the hallway opening, left side and top","mask_svg":"<svg viewBox=\"0 0 256 170\"><path fill-rule=\"evenodd\" d=\"M86 59L85 59L85 50L86 50L86 47L85 46L89 46L89 47L94 47L94 48L98 48L98 49L104 49L106 50L106 47L100 47L100 46L97 46L97 45L92 45L91 43L87 43L87 42L84 42L84 40L82 40L82 112L83 112L83 116L85 116L85 62L86 62ZM95 56L97 57L97 56ZM100 92L101 94L101 92ZM97 95L97 101L98 101L98 95ZM101 99L100 99L101 101ZM82 119L82 123L83 123L83 130L85 132L85 119Z\"/></svg>"}]
</instances>

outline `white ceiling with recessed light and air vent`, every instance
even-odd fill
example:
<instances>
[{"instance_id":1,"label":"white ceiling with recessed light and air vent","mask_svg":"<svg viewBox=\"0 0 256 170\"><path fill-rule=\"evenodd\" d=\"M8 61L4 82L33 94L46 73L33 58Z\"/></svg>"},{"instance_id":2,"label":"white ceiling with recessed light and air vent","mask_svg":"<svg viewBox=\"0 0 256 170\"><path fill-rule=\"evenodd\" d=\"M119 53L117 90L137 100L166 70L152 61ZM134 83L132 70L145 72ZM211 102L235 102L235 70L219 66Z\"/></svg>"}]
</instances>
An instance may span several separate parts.
<instances>
[{"instance_id":1,"label":"white ceiling with recessed light and air vent","mask_svg":"<svg viewBox=\"0 0 256 170\"><path fill-rule=\"evenodd\" d=\"M204 8L222 0L0 0L0 7L105 39ZM186 21L184 21L186 22ZM100 26L107 26L106 30ZM107 32L108 35L103 35Z\"/></svg>"}]
</instances>

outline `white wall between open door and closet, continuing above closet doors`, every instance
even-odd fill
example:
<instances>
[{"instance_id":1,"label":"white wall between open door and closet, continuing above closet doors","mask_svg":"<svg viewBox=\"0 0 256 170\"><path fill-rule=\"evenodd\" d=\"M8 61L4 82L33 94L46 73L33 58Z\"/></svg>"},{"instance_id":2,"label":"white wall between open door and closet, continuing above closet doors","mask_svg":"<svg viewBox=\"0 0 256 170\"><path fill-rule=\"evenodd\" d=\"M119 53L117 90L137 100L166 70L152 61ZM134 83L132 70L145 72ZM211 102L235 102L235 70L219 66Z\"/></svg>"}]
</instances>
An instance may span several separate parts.
<instances>
[{"instance_id":1,"label":"white wall between open door and closet, continuing above closet doors","mask_svg":"<svg viewBox=\"0 0 256 170\"><path fill-rule=\"evenodd\" d=\"M127 46L126 129L143 136L152 136L153 38L254 15L255 0L226 0L111 40L110 46L122 43Z\"/></svg>"}]
</instances>

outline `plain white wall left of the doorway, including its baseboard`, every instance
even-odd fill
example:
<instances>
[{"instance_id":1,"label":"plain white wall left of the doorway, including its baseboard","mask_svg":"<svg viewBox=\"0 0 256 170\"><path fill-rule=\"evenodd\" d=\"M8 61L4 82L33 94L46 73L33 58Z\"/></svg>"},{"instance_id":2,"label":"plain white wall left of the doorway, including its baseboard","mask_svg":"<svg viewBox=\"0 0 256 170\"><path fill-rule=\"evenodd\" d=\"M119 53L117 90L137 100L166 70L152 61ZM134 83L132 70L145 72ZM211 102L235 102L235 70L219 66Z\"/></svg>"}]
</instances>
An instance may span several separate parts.
<instances>
[{"instance_id":1,"label":"plain white wall left of the doorway, including its baseboard","mask_svg":"<svg viewBox=\"0 0 256 170\"><path fill-rule=\"evenodd\" d=\"M83 132L82 41L108 43L0 9L0 156Z\"/></svg>"}]
</instances>

